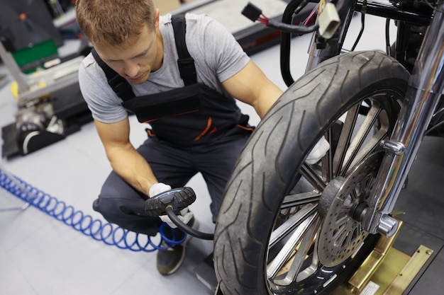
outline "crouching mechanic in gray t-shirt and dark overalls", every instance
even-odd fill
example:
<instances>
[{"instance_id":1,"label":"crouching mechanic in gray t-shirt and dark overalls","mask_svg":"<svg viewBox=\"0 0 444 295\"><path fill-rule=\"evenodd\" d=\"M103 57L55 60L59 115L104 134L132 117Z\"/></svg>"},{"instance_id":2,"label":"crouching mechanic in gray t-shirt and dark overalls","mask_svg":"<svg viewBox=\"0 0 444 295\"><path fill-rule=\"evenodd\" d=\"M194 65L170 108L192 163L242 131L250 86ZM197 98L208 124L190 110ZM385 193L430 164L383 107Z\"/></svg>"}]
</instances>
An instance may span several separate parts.
<instances>
[{"instance_id":1,"label":"crouching mechanic in gray t-shirt and dark overalls","mask_svg":"<svg viewBox=\"0 0 444 295\"><path fill-rule=\"evenodd\" d=\"M77 0L76 13L98 55L85 57L79 84L113 168L94 209L124 229L155 236L162 220L147 216L145 199L182 187L201 172L215 222L223 189L252 132L233 98L263 117L282 91L209 16L186 16L184 39L195 71L181 77L181 36L174 37L172 16L159 16L152 0ZM116 95L98 59L131 83L135 98ZM195 81L188 81L193 75ZM151 127L138 149L129 140L128 110ZM185 213L182 219L194 224ZM175 272L184 250L174 245L158 251L159 272Z\"/></svg>"}]
</instances>

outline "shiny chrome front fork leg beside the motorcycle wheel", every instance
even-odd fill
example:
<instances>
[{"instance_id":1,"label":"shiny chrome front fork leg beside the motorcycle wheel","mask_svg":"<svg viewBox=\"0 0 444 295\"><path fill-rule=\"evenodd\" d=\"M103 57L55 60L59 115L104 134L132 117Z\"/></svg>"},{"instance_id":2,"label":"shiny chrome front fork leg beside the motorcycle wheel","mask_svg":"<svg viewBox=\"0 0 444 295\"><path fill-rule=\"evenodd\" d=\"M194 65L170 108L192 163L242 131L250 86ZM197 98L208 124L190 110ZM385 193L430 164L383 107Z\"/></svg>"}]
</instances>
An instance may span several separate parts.
<instances>
[{"instance_id":1,"label":"shiny chrome front fork leg beside the motorcycle wheel","mask_svg":"<svg viewBox=\"0 0 444 295\"><path fill-rule=\"evenodd\" d=\"M396 232L398 223L389 214L394 209L433 111L443 94L444 0L440 0L436 7L431 25L424 35L392 138L382 142L387 152L362 219L363 229L370 233L392 236Z\"/></svg>"}]
</instances>

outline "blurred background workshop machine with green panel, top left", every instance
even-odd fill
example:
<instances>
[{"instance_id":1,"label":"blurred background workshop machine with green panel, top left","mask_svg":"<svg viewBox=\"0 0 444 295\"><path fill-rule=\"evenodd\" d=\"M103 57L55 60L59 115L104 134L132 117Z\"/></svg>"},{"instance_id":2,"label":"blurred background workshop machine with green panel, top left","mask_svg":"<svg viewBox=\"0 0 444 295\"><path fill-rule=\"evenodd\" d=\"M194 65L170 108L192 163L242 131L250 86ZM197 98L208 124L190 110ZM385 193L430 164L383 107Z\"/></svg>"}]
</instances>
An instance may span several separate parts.
<instances>
[{"instance_id":1,"label":"blurred background workshop machine with green panel, top left","mask_svg":"<svg viewBox=\"0 0 444 295\"><path fill-rule=\"evenodd\" d=\"M92 120L77 79L90 47L81 40L77 50L60 56L65 38L46 1L1 0L0 5L0 57L16 79L18 105L16 122L2 128L2 156L9 158L64 139Z\"/></svg>"}]
</instances>

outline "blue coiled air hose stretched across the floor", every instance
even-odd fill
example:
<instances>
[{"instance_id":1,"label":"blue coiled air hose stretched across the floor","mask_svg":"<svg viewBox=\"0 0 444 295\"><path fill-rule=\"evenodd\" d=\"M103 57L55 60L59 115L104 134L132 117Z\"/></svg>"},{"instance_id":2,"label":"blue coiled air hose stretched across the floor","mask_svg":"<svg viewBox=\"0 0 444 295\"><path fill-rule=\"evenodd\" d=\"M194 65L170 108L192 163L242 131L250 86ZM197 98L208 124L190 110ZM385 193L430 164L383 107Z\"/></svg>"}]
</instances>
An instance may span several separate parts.
<instances>
[{"instance_id":1,"label":"blue coiled air hose stretched across the floor","mask_svg":"<svg viewBox=\"0 0 444 295\"><path fill-rule=\"evenodd\" d=\"M6 173L4 170L1 170L1 167L0 186L31 206L40 209L40 211L45 212L69 226L72 226L73 229L80 231L86 236L94 238L96 241L103 241L106 245L115 245L118 248L129 249L136 252L152 252L155 250L165 250L165 248L170 247L170 245L182 243L185 238L187 238L187 235L184 235L182 239L175 241L175 229L172 229L172 240L165 237L164 229L167 224L164 223L160 226L160 237L157 239L158 242L155 243L152 240L157 236L146 236L122 229L115 224L102 222L100 219L93 219L91 215L75 210L74 207L32 187L15 175ZM165 245L165 243L162 245L163 241L169 245Z\"/></svg>"}]
</instances>

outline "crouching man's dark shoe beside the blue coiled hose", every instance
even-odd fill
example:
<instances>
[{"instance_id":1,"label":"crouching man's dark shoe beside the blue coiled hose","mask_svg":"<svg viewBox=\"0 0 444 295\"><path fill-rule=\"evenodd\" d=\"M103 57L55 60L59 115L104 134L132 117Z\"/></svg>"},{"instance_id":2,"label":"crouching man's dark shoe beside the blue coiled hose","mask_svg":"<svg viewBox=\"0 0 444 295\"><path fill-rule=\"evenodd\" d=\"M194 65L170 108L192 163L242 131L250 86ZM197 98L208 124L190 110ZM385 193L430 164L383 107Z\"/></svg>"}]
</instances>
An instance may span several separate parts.
<instances>
[{"instance_id":1,"label":"crouching man's dark shoe beside the blue coiled hose","mask_svg":"<svg viewBox=\"0 0 444 295\"><path fill-rule=\"evenodd\" d=\"M191 226L192 229L198 229L199 228L199 222L194 219L194 216L187 224L188 226ZM175 229L176 231L176 240L181 240L184 236L184 232L180 229ZM165 236L167 238L172 238L172 231L165 232ZM179 267L184 262L185 258L185 249L187 246L188 241L192 238L191 235L187 235L187 238L185 238L185 241L178 245L172 245L169 248L165 250L158 250L157 251L157 271L160 272L160 274L168 275L173 274L177 270L179 270ZM168 247L168 244L164 241L160 245L162 248Z\"/></svg>"}]
</instances>

